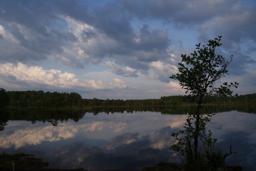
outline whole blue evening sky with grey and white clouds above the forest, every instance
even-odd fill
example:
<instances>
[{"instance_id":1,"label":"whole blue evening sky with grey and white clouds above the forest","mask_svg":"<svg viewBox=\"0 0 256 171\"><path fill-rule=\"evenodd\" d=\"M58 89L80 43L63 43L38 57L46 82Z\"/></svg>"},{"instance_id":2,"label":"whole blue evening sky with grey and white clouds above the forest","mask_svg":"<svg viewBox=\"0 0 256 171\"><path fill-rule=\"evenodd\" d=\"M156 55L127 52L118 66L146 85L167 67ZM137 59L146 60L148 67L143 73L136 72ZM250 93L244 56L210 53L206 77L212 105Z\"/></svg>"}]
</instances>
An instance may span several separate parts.
<instances>
[{"instance_id":1,"label":"whole blue evening sky with grey and white clouds above the forest","mask_svg":"<svg viewBox=\"0 0 256 171\"><path fill-rule=\"evenodd\" d=\"M223 36L233 61L216 82L256 92L254 0L0 1L0 87L91 99L184 95L181 54Z\"/></svg>"}]
</instances>

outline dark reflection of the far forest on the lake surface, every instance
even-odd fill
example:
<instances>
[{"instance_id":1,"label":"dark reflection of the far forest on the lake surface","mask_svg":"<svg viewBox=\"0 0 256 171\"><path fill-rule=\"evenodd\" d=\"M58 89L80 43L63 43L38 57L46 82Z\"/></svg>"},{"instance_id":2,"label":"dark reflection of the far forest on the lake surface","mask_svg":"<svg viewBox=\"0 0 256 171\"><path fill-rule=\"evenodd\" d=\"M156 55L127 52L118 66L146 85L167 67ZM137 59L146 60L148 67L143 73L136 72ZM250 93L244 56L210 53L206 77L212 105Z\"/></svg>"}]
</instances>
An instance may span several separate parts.
<instances>
[{"instance_id":1,"label":"dark reflection of the far forest on the lake surface","mask_svg":"<svg viewBox=\"0 0 256 171\"><path fill-rule=\"evenodd\" d=\"M73 120L78 122L85 115L105 113L106 115L114 113L136 113L136 112L159 112L162 115L186 115L190 114L193 109L191 106L125 106L125 107L91 107L85 109L60 109L60 110L2 110L0 117L0 131L5 129L8 121L31 121L35 124L37 121L49 122L53 126L58 123ZM194 107L195 108L195 107ZM230 112L239 111L245 113L256 114L256 108L253 105L211 105L203 108L204 114L211 114L213 112Z\"/></svg>"}]
</instances>

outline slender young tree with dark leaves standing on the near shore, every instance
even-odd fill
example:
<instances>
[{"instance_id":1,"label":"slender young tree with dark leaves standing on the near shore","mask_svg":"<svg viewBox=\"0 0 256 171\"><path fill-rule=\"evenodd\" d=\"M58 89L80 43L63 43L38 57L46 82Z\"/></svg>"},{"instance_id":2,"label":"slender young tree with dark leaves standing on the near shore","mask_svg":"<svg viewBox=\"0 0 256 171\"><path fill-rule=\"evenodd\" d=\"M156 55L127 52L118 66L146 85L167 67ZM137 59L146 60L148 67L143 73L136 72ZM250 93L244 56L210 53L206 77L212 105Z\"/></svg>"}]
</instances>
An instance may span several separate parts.
<instances>
[{"instance_id":1,"label":"slender young tree with dark leaves standing on the near shore","mask_svg":"<svg viewBox=\"0 0 256 171\"><path fill-rule=\"evenodd\" d=\"M228 84L225 82L220 87L215 87L215 82L227 74L227 66L232 62L233 55L229 60L226 60L221 55L215 54L215 49L221 46L222 36L218 36L214 40L209 40L208 44L201 46L196 44L197 51L191 53L191 56L181 54L181 63L179 73L170 76L170 78L178 80L182 88L187 89L187 100L197 103L196 111L187 119L185 124L185 138L178 138L179 133L173 133L172 136L179 141L178 144L173 145L170 149L179 152L185 156L187 160L193 161L197 165L199 161L198 153L198 138L205 130L205 125L210 122L212 115L203 117L201 108L207 103L212 95L214 96L233 96L231 87L236 87L238 83ZM186 66L185 66L185 65ZM237 94L235 95L237 96ZM194 123L191 121L194 120ZM183 152L181 152L184 147ZM197 162L197 163L196 163Z\"/></svg>"}]
</instances>

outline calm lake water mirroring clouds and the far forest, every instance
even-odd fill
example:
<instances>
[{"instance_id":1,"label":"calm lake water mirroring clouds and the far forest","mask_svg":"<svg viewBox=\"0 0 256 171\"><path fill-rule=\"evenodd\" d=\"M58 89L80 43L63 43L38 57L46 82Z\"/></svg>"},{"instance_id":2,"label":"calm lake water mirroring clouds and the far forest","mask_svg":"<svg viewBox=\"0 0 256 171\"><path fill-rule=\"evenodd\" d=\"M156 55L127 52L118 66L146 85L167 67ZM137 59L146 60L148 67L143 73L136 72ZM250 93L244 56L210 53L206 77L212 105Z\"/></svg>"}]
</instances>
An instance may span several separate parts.
<instances>
[{"instance_id":1,"label":"calm lake water mirroring clouds and the far forest","mask_svg":"<svg viewBox=\"0 0 256 171\"><path fill-rule=\"evenodd\" d=\"M189 108L95 108L76 111L1 111L0 152L31 153L49 168L136 170L159 161L179 162L170 136L184 126ZM256 166L254 106L207 107L207 125L226 163ZM6 125L7 124L7 125Z\"/></svg>"}]
</instances>

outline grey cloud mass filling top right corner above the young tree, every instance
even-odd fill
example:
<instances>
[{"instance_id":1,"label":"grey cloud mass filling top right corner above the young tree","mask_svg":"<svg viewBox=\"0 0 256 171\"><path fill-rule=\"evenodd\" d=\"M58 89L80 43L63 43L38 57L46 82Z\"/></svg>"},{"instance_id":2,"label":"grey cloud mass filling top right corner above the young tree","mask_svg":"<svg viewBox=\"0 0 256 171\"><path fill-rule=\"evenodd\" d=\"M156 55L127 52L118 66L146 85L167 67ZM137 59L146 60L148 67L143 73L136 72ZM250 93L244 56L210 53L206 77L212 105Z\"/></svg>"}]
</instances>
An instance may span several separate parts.
<instances>
[{"instance_id":1,"label":"grey cloud mass filling top right corner above the young tree","mask_svg":"<svg viewBox=\"0 0 256 171\"><path fill-rule=\"evenodd\" d=\"M196 30L199 41L205 44L207 40L222 35L223 52L228 52L227 56L236 56L229 66L230 74L244 74L247 64L255 63L255 58L244 53L250 50L255 52L255 4L247 5L238 0L119 2L137 19L158 20L178 30Z\"/></svg>"}]
</instances>

